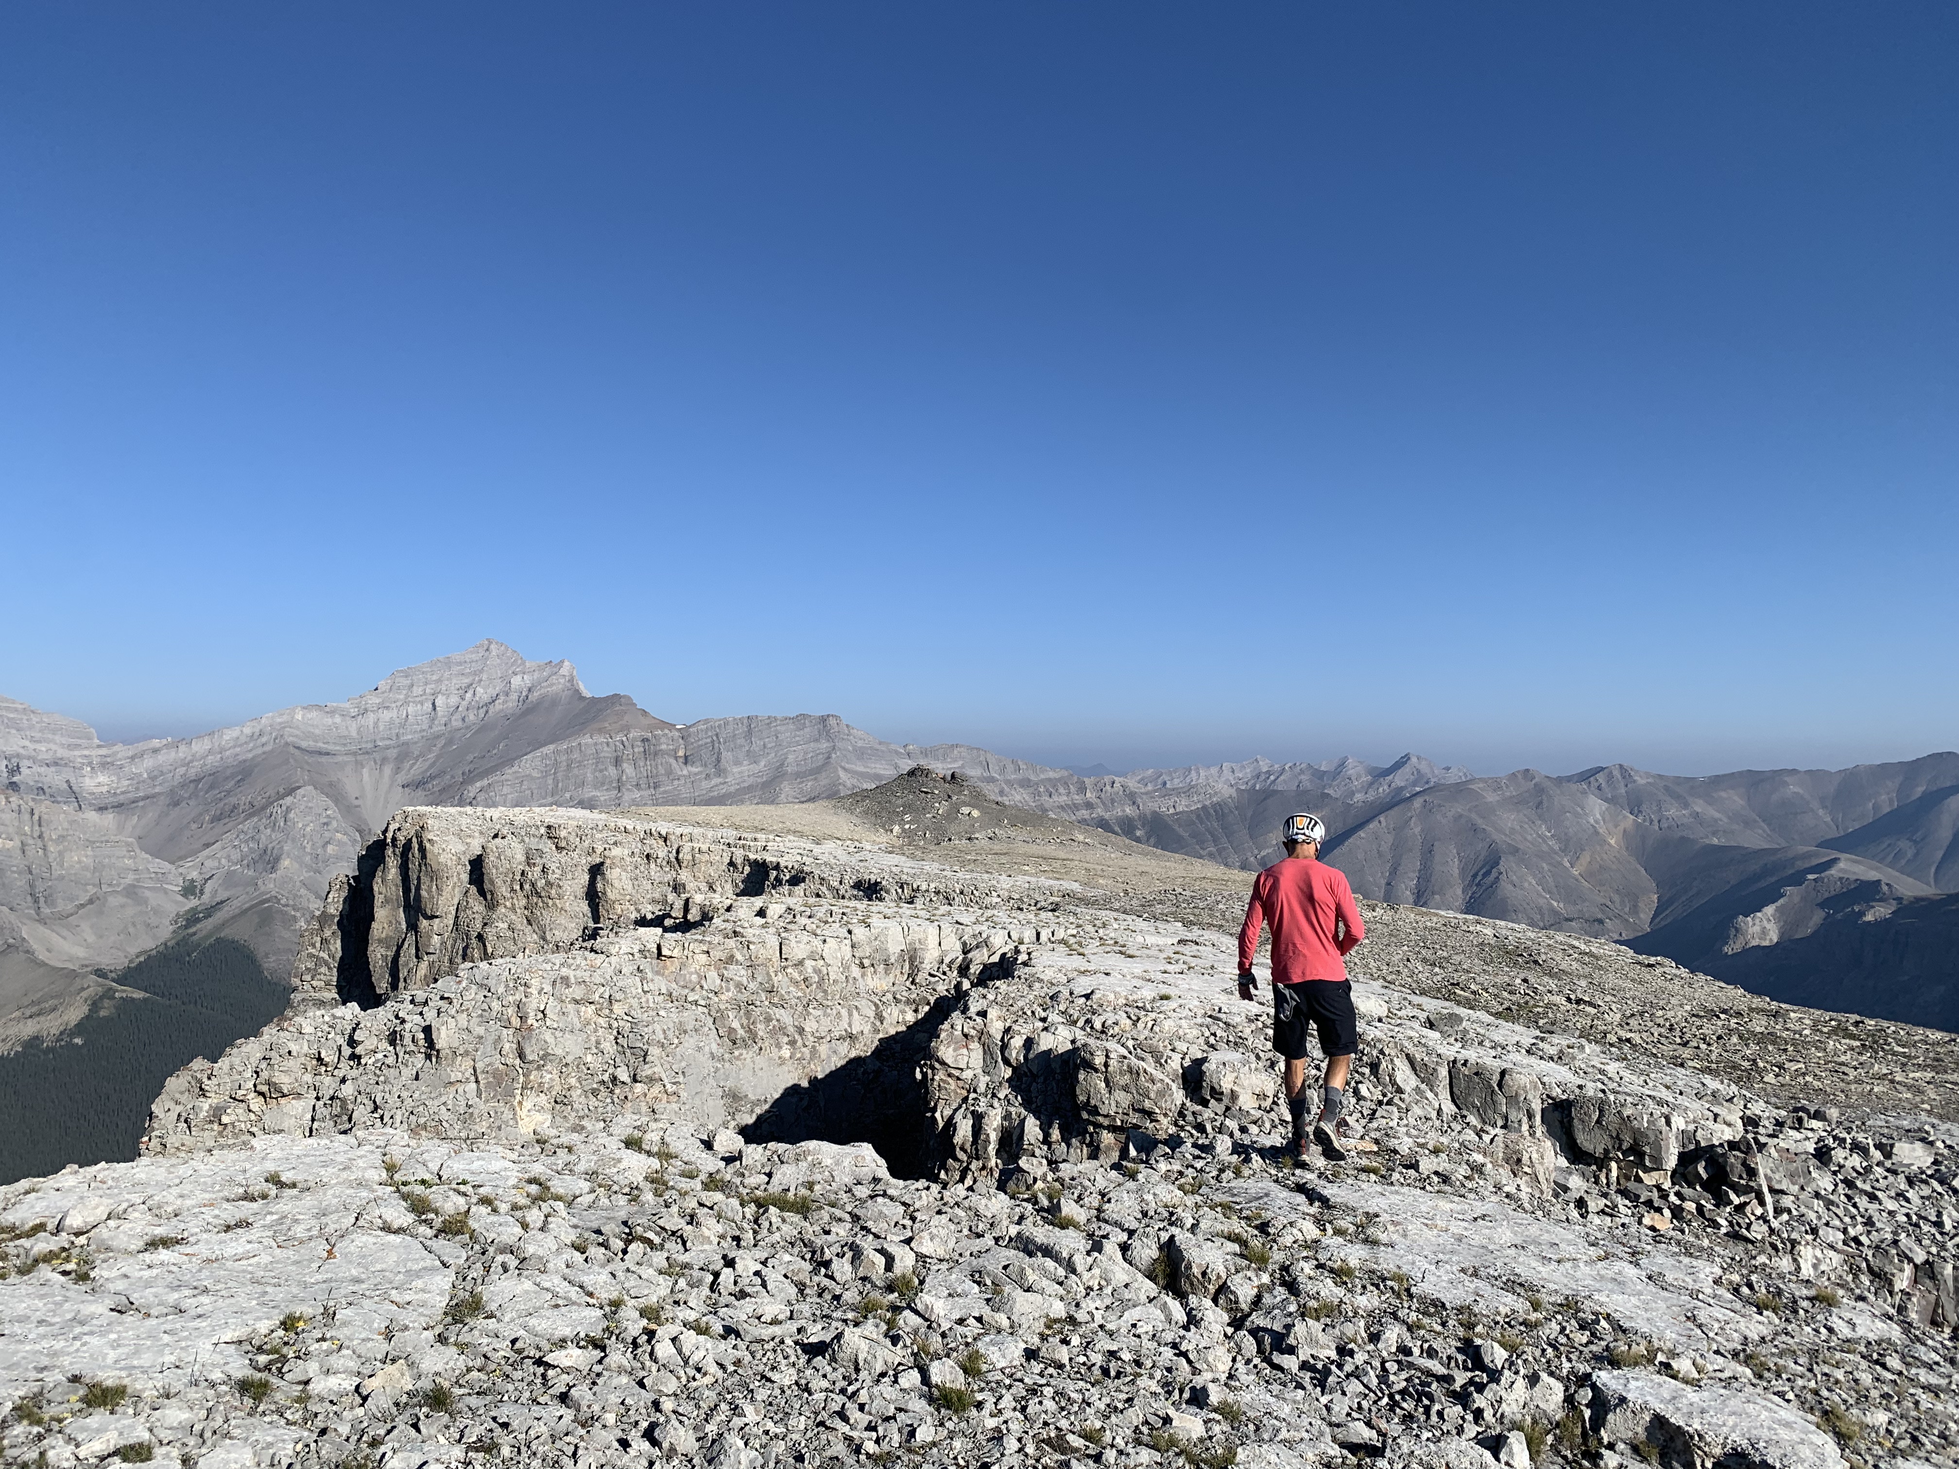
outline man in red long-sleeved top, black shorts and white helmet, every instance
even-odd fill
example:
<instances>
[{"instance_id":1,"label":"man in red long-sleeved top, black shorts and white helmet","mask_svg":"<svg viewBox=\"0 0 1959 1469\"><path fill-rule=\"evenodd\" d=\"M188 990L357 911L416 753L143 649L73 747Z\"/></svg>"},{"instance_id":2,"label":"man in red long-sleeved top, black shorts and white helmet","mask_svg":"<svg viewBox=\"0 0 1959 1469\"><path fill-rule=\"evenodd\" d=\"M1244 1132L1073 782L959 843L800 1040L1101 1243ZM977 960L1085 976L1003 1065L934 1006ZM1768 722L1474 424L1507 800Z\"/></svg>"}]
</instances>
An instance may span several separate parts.
<instances>
[{"instance_id":1,"label":"man in red long-sleeved top, black shorts and white helmet","mask_svg":"<svg viewBox=\"0 0 1959 1469\"><path fill-rule=\"evenodd\" d=\"M1346 1103L1348 1067L1360 1048L1354 1022L1354 985L1346 956L1367 936L1346 874L1320 862L1326 823L1299 811L1285 819L1285 860L1273 862L1252 881L1252 903L1238 930L1238 999L1252 999L1258 977L1252 956L1258 930L1271 926L1271 1048L1285 1058L1285 1101L1293 1111L1293 1152L1307 1154L1307 1056L1309 1026L1318 1030L1326 1056L1320 1114L1313 1142L1340 1161L1340 1109Z\"/></svg>"}]
</instances>

